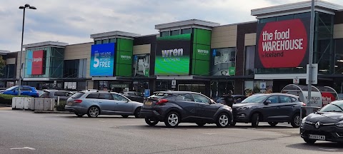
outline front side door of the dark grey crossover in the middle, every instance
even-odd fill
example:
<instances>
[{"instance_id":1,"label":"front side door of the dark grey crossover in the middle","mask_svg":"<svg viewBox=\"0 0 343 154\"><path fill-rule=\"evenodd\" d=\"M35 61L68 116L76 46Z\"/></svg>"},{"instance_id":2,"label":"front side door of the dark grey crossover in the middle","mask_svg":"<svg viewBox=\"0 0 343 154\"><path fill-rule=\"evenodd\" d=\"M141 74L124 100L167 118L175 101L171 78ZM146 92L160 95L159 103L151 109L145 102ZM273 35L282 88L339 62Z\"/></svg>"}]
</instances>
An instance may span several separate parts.
<instances>
[{"instance_id":1,"label":"front side door of the dark grey crossover in the middle","mask_svg":"<svg viewBox=\"0 0 343 154\"><path fill-rule=\"evenodd\" d=\"M214 113L217 112L219 106L211 104L211 100L206 96L202 96L197 93L192 93L192 97L194 98L194 102L196 102L200 107L199 117L204 118L206 120L213 119Z\"/></svg>"}]
</instances>

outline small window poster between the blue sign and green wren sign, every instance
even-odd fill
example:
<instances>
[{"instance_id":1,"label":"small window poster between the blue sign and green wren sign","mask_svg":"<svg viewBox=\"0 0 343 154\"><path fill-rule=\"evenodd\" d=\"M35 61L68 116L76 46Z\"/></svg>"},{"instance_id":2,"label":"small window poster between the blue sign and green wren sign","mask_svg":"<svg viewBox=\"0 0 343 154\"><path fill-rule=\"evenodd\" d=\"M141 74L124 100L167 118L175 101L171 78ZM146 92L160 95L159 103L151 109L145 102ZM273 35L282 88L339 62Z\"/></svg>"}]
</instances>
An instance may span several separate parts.
<instances>
[{"instance_id":1,"label":"small window poster between the blue sign and green wren sign","mask_svg":"<svg viewBox=\"0 0 343 154\"><path fill-rule=\"evenodd\" d=\"M149 76L150 55L134 55L134 76Z\"/></svg>"}]
</instances>

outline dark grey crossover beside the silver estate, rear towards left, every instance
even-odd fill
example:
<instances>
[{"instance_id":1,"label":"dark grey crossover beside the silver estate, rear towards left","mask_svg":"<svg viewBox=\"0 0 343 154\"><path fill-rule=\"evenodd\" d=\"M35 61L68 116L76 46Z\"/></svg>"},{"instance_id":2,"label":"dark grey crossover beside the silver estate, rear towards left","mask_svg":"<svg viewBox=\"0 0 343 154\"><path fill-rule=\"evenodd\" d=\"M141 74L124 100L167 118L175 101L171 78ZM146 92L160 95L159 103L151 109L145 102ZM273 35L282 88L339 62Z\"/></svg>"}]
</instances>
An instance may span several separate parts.
<instances>
[{"instance_id":1,"label":"dark grey crossover beside the silver estate, rear towards left","mask_svg":"<svg viewBox=\"0 0 343 154\"><path fill-rule=\"evenodd\" d=\"M148 125L161 121L167 127L177 127L179 123L216 123L218 127L227 127L232 123L232 108L201 93L162 91L146 99L140 116Z\"/></svg>"}]
</instances>

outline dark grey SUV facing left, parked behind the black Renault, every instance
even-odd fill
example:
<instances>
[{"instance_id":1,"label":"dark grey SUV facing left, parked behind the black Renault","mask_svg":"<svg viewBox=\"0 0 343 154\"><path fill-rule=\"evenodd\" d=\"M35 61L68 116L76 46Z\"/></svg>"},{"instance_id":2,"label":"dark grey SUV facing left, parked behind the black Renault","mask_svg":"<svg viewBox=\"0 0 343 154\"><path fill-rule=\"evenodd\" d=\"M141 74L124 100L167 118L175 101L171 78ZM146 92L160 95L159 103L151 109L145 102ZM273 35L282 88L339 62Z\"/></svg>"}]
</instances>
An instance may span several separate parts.
<instances>
[{"instance_id":1,"label":"dark grey SUV facing left, parked behind the black Renault","mask_svg":"<svg viewBox=\"0 0 343 154\"><path fill-rule=\"evenodd\" d=\"M306 104L287 93L255 94L233 105L234 124L252 123L252 127L257 127L259 122L268 122L272 126L288 122L298 128L302 106Z\"/></svg>"}]
</instances>

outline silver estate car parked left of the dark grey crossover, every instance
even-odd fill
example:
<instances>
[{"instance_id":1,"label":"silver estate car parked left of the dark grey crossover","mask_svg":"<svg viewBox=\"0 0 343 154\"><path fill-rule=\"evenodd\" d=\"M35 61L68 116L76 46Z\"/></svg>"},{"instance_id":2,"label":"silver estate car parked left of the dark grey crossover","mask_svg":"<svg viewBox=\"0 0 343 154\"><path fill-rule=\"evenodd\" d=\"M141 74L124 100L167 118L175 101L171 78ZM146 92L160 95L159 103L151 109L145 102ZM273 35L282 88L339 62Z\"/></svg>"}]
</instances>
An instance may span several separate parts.
<instances>
[{"instance_id":1,"label":"silver estate car parked left of the dark grey crossover","mask_svg":"<svg viewBox=\"0 0 343 154\"><path fill-rule=\"evenodd\" d=\"M143 103L131 101L129 98L114 92L81 91L66 101L65 109L82 117L85 114L94 118L101 115L121 115L124 118L139 118Z\"/></svg>"}]
</instances>

